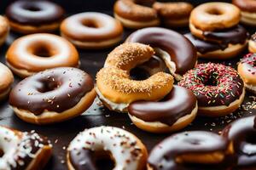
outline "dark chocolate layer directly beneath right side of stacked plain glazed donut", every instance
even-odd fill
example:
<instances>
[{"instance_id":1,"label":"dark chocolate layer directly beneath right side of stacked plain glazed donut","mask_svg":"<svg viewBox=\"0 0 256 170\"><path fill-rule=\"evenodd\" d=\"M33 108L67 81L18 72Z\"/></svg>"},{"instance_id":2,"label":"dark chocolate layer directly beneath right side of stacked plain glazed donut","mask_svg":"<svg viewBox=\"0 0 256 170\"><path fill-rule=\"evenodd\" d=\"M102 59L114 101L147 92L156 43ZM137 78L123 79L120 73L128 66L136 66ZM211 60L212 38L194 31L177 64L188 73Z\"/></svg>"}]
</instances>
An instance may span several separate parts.
<instances>
[{"instance_id":1,"label":"dark chocolate layer directly beneath right side of stacked plain glazed donut","mask_svg":"<svg viewBox=\"0 0 256 170\"><path fill-rule=\"evenodd\" d=\"M222 31L204 31L203 36L208 40L222 44L242 44L247 40L249 34L243 26L238 25Z\"/></svg>"}]
</instances>

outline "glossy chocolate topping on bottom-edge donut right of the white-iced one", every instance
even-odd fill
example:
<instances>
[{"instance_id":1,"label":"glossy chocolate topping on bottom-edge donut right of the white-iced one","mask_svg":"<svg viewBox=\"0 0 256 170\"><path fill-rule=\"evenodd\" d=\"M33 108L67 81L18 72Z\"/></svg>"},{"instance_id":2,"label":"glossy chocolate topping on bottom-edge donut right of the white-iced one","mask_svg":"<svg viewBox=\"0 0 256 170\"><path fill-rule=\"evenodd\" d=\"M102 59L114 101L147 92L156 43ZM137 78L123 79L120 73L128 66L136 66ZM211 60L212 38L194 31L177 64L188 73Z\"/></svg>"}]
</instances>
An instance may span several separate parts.
<instances>
[{"instance_id":1,"label":"glossy chocolate topping on bottom-edge donut right of the white-iced one","mask_svg":"<svg viewBox=\"0 0 256 170\"><path fill-rule=\"evenodd\" d=\"M227 139L216 133L204 131L177 133L154 147L148 157L148 164L154 170L187 170L193 166L186 167L186 162L178 163L177 156L224 151L227 150L228 144Z\"/></svg>"}]
</instances>

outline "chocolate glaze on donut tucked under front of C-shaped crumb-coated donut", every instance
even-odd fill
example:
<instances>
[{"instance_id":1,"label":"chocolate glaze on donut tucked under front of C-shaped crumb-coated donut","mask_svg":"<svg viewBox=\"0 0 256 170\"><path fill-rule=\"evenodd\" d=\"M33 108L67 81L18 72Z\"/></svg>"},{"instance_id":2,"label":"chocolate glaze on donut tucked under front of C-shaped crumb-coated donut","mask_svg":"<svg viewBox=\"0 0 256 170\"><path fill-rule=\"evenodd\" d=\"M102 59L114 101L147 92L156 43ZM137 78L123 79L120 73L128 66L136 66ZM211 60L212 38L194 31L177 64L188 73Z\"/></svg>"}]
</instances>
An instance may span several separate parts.
<instances>
[{"instance_id":1,"label":"chocolate glaze on donut tucked under front of C-shaped crumb-coated donut","mask_svg":"<svg viewBox=\"0 0 256 170\"><path fill-rule=\"evenodd\" d=\"M182 97L181 97L182 96ZM145 122L162 122L172 126L195 109L196 98L187 88L174 86L170 94L159 102L137 101L128 107L129 114Z\"/></svg>"}]
</instances>

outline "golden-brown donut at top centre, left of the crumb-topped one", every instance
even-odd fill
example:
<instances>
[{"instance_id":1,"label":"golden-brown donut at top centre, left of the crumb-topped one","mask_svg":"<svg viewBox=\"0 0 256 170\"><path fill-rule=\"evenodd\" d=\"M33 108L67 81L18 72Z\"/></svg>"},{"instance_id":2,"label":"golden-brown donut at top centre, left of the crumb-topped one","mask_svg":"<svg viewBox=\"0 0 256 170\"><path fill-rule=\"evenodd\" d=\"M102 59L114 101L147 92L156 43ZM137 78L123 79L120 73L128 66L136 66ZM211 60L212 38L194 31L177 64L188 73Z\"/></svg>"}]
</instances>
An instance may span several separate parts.
<instances>
[{"instance_id":1,"label":"golden-brown donut at top centre, left of the crumb-topped one","mask_svg":"<svg viewBox=\"0 0 256 170\"><path fill-rule=\"evenodd\" d=\"M147 0L118 0L114 3L114 17L119 20L123 26L131 29L139 29L150 26L158 26L160 20L157 12L151 8L153 4L144 6Z\"/></svg>"}]
</instances>

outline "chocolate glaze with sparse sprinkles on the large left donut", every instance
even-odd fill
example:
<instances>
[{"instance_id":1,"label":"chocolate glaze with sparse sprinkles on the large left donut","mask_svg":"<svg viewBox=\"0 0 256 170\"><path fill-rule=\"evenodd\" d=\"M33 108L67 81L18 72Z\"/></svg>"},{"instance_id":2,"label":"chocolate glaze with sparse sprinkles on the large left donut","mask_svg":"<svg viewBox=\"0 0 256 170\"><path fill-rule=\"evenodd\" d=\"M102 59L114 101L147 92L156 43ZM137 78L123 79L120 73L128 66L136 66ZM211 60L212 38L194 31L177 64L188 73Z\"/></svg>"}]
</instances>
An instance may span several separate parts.
<instances>
[{"instance_id":1,"label":"chocolate glaze with sparse sprinkles on the large left donut","mask_svg":"<svg viewBox=\"0 0 256 170\"><path fill-rule=\"evenodd\" d=\"M59 67L27 77L12 89L9 104L40 115L45 110L62 112L77 105L94 88L84 71Z\"/></svg>"}]
</instances>

